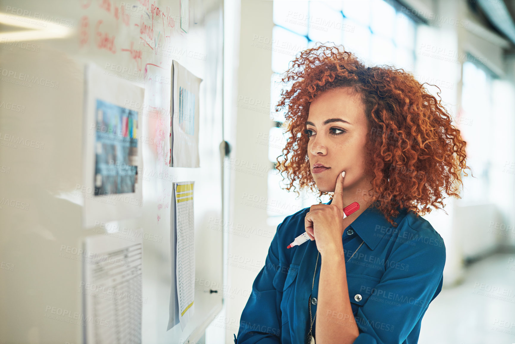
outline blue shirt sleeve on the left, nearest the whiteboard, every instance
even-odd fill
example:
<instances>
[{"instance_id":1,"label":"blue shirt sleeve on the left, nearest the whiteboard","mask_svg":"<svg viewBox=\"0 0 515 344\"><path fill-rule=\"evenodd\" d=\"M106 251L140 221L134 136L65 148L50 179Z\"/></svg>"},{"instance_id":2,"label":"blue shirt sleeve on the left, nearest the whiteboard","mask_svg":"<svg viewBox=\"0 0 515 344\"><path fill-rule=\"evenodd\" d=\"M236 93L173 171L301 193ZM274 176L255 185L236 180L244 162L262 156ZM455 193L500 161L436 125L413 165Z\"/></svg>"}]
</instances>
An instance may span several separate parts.
<instances>
[{"instance_id":1,"label":"blue shirt sleeve on the left, nearest the whiteboard","mask_svg":"<svg viewBox=\"0 0 515 344\"><path fill-rule=\"evenodd\" d=\"M277 227L265 266L261 269L252 284L252 293L241 319L239 320L238 336L235 344L279 344L281 337L281 299L282 288L276 274L281 274L284 266L279 263L279 230L283 221ZM284 272L286 275L286 272ZM284 279L282 279L284 285ZM280 288L278 290L277 288Z\"/></svg>"}]
</instances>

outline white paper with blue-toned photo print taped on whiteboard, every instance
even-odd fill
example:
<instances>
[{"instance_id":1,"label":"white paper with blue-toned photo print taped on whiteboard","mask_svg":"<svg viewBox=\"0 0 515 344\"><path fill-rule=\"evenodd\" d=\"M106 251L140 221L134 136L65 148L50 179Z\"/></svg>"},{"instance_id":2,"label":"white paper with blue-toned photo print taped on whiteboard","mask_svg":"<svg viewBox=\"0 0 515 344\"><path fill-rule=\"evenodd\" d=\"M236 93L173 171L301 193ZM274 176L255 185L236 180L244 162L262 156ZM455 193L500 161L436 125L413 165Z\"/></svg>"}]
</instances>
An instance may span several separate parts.
<instances>
[{"instance_id":1,"label":"white paper with blue-toned photo print taped on whiteboard","mask_svg":"<svg viewBox=\"0 0 515 344\"><path fill-rule=\"evenodd\" d=\"M134 104L143 96L143 88L87 65L83 185L76 190L84 198L84 227L142 214L142 111Z\"/></svg>"}]
</instances>

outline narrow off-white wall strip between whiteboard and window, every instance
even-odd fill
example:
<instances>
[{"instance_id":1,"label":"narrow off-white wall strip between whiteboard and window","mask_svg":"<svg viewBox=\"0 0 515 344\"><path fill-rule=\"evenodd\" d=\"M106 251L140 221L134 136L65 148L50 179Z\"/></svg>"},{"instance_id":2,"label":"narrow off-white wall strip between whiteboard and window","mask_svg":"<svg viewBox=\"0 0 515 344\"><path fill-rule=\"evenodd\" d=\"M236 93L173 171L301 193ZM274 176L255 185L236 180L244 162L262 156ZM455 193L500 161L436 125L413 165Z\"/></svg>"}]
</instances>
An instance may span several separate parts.
<instances>
[{"instance_id":1,"label":"narrow off-white wall strip between whiteboard and window","mask_svg":"<svg viewBox=\"0 0 515 344\"><path fill-rule=\"evenodd\" d=\"M254 109L249 102L270 102L271 51L253 46L255 37L272 38L272 2L245 0L241 2L241 29L237 66L237 97L235 107L234 151L226 168L231 170L233 191L230 222L233 234L228 234L228 285L226 297L227 343L233 343L239 318L247 303L252 282L265 264L266 254L276 228L267 225L266 204L256 199L267 198L268 145L258 144L259 137L268 134L271 126L266 112ZM267 44L271 47L271 44ZM267 142L267 140L265 140ZM244 203L242 203L244 201ZM256 228L253 233L239 236L242 227ZM261 235L260 235L261 234ZM239 263L245 261L245 263Z\"/></svg>"}]
</instances>

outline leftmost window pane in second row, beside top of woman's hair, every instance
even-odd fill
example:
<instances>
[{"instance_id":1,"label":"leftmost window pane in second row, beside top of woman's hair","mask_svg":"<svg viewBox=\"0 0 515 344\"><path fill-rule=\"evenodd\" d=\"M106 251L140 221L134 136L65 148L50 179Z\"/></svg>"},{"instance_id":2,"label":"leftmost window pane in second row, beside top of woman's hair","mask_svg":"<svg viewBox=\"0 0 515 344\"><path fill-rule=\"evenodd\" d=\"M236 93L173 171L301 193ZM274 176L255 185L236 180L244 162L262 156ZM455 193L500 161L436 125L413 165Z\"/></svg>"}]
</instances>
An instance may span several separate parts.
<instances>
[{"instance_id":1,"label":"leftmost window pane in second row, beside top of woman's hair","mask_svg":"<svg viewBox=\"0 0 515 344\"><path fill-rule=\"evenodd\" d=\"M307 38L294 34L282 27L272 29L272 71L283 73L295 55L307 47Z\"/></svg>"}]
</instances>

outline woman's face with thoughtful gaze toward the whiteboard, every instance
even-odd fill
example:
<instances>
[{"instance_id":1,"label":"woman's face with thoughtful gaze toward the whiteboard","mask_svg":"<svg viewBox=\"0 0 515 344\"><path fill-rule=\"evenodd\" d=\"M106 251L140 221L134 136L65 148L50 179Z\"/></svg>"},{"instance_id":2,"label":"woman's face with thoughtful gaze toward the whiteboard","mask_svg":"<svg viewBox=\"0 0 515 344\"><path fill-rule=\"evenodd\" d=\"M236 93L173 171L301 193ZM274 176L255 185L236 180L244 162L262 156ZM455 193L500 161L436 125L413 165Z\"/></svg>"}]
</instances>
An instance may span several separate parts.
<instances>
[{"instance_id":1,"label":"woman's face with thoughtful gaze toward the whiteboard","mask_svg":"<svg viewBox=\"0 0 515 344\"><path fill-rule=\"evenodd\" d=\"M370 189L365 175L365 145L368 138L365 105L351 88L320 93L311 102L306 122L310 170L320 191L334 192L338 174L345 171L344 189L350 193ZM321 163L327 169L314 168Z\"/></svg>"}]
</instances>

